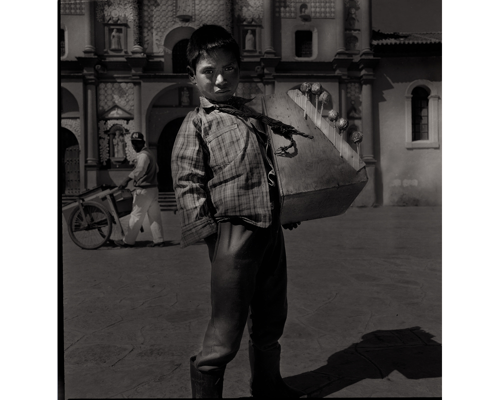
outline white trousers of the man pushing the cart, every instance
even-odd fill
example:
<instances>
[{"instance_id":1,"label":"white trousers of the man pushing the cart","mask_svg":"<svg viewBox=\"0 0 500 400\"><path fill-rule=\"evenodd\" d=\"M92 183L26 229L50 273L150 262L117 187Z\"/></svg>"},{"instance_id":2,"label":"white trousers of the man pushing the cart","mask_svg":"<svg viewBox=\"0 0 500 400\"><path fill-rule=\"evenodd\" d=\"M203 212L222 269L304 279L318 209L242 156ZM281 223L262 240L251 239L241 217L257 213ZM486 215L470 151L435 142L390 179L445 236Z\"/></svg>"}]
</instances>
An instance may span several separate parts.
<instances>
[{"instance_id":1,"label":"white trousers of the man pushing the cart","mask_svg":"<svg viewBox=\"0 0 500 400\"><path fill-rule=\"evenodd\" d=\"M147 189L137 187L133 192L132 212L128 221L128 230L123 237L127 244L135 244L135 239L139 234L142 222L147 214L151 224L153 241L161 243L163 241L163 226L161 225L161 213L158 203L158 188L149 187Z\"/></svg>"}]
</instances>

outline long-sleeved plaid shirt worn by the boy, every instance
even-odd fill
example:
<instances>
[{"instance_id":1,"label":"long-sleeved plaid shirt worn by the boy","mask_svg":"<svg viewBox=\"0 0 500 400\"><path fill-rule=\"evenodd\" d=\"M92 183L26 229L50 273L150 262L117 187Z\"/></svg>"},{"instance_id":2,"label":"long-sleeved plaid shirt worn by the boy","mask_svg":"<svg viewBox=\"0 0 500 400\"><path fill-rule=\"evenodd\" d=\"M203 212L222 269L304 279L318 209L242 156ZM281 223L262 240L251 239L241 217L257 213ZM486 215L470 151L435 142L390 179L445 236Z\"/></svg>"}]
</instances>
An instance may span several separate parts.
<instances>
[{"instance_id":1,"label":"long-sleeved plaid shirt worn by the boy","mask_svg":"<svg viewBox=\"0 0 500 400\"><path fill-rule=\"evenodd\" d=\"M257 138L260 123L216 109L206 97L189 112L172 151L172 177L180 211L180 247L217 232L217 222L239 217L260 227L271 223L269 157ZM267 162L264 159L267 158Z\"/></svg>"}]
</instances>

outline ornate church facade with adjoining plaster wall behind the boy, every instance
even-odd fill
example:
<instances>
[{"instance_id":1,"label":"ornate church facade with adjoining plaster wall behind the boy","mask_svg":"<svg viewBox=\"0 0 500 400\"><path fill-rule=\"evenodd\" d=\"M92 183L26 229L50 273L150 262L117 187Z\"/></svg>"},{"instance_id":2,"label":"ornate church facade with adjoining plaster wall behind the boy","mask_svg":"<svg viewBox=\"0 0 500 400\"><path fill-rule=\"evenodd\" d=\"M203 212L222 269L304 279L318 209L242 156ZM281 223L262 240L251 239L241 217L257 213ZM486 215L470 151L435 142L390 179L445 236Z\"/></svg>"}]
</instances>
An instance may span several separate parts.
<instances>
[{"instance_id":1,"label":"ornate church facade with adjoining plaster wall behind the boy","mask_svg":"<svg viewBox=\"0 0 500 400\"><path fill-rule=\"evenodd\" d=\"M354 205L441 204L441 37L377 32L371 0L107 0L60 2L60 192L117 185L133 168L130 133L156 153L171 191L170 154L199 93L185 49L202 24L241 48L237 95L319 82L356 130L369 181ZM250 104L252 104L250 103Z\"/></svg>"}]
</instances>

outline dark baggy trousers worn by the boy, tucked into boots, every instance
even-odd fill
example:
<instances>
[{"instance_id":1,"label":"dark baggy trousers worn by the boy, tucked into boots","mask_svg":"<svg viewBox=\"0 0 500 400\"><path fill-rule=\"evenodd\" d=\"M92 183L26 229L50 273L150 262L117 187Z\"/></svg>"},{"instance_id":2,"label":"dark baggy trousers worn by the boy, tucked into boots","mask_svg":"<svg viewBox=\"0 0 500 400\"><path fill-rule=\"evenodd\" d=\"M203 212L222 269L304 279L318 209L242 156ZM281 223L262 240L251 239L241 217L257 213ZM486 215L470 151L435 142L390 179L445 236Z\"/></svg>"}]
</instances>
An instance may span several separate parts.
<instances>
[{"instance_id":1,"label":"dark baggy trousers worn by the boy, tucked into boots","mask_svg":"<svg viewBox=\"0 0 500 400\"><path fill-rule=\"evenodd\" d=\"M234 218L205 239L211 261L211 318L195 366L225 368L239 349L245 323L252 345L279 346L286 320L286 255L278 215L267 228Z\"/></svg>"}]
</instances>

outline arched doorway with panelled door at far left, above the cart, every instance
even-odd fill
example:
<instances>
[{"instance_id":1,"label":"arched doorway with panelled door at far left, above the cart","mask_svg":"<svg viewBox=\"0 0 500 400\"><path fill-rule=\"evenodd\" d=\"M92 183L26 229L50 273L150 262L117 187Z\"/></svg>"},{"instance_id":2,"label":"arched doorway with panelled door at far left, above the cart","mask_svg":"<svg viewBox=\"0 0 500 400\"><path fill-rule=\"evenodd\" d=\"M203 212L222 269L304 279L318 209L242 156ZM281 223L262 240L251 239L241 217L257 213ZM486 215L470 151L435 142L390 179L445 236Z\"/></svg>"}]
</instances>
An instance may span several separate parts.
<instances>
[{"instance_id":1,"label":"arched doorway with panelled door at far left, above the cart","mask_svg":"<svg viewBox=\"0 0 500 400\"><path fill-rule=\"evenodd\" d=\"M80 147L76 136L69 129L60 128L59 141L59 193L80 192Z\"/></svg>"}]
</instances>

